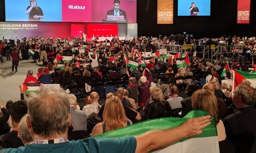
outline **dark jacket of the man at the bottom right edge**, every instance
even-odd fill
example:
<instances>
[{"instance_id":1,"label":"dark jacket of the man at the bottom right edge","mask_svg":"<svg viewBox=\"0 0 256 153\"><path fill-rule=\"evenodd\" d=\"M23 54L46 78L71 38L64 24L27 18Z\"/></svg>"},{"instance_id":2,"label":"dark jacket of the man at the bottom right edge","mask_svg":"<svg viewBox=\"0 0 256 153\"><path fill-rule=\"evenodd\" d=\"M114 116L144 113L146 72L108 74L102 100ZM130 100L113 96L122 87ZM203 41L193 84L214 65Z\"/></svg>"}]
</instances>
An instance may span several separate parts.
<instances>
[{"instance_id":1,"label":"dark jacket of the man at the bottom right edge","mask_svg":"<svg viewBox=\"0 0 256 153\"><path fill-rule=\"evenodd\" d=\"M250 152L251 148L256 147L255 120L256 110L253 106L237 108L234 114L224 118L227 139L235 145L235 152Z\"/></svg>"}]
</instances>

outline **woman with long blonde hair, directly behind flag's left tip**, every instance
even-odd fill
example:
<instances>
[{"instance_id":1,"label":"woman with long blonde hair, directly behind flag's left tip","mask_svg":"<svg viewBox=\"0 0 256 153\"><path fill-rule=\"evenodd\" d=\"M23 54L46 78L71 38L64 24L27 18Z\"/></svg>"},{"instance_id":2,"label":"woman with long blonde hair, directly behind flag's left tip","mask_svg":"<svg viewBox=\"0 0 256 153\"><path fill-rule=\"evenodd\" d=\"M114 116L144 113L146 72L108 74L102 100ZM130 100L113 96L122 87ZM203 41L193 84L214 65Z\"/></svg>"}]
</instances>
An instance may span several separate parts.
<instances>
[{"instance_id":1,"label":"woman with long blonde hair, directly behind flag's left tip","mask_svg":"<svg viewBox=\"0 0 256 153\"><path fill-rule=\"evenodd\" d=\"M133 124L133 122L126 117L121 100L117 96L111 96L107 100L103 110L103 122L95 125L91 136L103 134L131 124Z\"/></svg>"}]
</instances>

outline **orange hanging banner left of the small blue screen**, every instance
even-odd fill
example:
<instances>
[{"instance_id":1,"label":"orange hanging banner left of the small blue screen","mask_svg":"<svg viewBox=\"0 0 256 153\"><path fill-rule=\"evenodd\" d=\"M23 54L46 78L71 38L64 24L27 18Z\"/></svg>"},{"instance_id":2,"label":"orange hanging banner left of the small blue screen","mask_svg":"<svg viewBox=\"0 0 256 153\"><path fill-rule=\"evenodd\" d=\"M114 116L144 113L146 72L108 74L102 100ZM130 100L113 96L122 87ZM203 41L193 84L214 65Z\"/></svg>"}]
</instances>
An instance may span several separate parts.
<instances>
[{"instance_id":1,"label":"orange hanging banner left of the small blue screen","mask_svg":"<svg viewBox=\"0 0 256 153\"><path fill-rule=\"evenodd\" d=\"M157 24L173 24L173 0L157 1Z\"/></svg>"}]
</instances>

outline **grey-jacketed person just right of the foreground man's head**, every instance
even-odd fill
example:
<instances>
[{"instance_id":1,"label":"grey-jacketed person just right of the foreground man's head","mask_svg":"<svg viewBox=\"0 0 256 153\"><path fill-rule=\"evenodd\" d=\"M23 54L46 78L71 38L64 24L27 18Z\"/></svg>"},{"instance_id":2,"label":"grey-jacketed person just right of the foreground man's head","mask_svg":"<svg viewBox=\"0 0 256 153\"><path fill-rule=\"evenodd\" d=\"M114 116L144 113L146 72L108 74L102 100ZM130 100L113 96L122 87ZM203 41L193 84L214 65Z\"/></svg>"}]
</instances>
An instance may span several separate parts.
<instances>
[{"instance_id":1,"label":"grey-jacketed person just right of the foreground man's head","mask_svg":"<svg viewBox=\"0 0 256 153\"><path fill-rule=\"evenodd\" d=\"M75 94L67 94L70 102L71 126L73 131L87 130L86 115L83 110L77 108L77 97Z\"/></svg>"}]
</instances>

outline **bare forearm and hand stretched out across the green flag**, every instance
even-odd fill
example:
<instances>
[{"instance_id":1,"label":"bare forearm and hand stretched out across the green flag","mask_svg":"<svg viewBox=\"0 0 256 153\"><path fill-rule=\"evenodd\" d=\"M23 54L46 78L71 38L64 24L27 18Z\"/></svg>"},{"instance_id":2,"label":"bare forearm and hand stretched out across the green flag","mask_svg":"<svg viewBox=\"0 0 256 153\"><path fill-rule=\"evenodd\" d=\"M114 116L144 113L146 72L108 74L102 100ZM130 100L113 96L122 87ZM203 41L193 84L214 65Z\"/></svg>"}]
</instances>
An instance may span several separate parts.
<instances>
[{"instance_id":1,"label":"bare forearm and hand stretched out across the green flag","mask_svg":"<svg viewBox=\"0 0 256 153\"><path fill-rule=\"evenodd\" d=\"M211 124L211 116L201 116L186 120L180 126L168 130L152 130L135 136L137 147L135 152L149 152L165 148L183 138L189 138L202 133L202 129Z\"/></svg>"}]
</instances>

